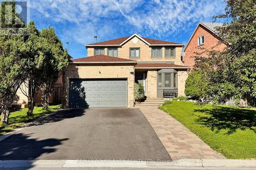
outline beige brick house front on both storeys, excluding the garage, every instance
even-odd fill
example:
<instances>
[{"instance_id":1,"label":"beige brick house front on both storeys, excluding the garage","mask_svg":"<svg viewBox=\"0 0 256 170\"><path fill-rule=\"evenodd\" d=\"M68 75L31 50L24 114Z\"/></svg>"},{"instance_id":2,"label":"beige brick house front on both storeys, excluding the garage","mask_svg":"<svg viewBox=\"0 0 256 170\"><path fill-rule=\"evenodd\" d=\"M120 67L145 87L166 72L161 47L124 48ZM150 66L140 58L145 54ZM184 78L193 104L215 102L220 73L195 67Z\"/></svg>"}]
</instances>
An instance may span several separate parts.
<instances>
[{"instance_id":1,"label":"beige brick house front on both storeys, excluding the garage","mask_svg":"<svg viewBox=\"0 0 256 170\"><path fill-rule=\"evenodd\" d=\"M98 46L97 46L98 47ZM104 54L108 55L108 46L104 47ZM113 47L113 46L111 46ZM153 46L154 47L154 46ZM162 58L152 58L152 46L149 46L146 42L142 41L138 37L133 37L122 46L118 46L118 58L136 60L138 62L174 62L176 65L182 65L181 61L181 46L175 47L175 58L165 58L165 47L162 45ZM140 48L140 58L130 58L130 48ZM94 56L94 47L87 47L87 55ZM185 95L185 81L187 78L186 69L176 69L178 71L178 95ZM144 70L147 76L145 79L145 90L147 98L157 98L157 71L158 70Z\"/></svg>"}]
</instances>

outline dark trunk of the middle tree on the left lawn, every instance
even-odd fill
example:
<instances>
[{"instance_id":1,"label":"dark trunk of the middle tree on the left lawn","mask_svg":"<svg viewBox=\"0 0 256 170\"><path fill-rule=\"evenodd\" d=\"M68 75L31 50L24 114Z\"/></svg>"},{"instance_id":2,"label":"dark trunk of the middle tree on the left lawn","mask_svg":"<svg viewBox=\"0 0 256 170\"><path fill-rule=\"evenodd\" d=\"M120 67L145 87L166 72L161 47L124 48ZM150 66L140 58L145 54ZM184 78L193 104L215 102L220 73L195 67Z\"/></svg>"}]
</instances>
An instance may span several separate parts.
<instances>
[{"instance_id":1,"label":"dark trunk of the middle tree on the left lawn","mask_svg":"<svg viewBox=\"0 0 256 170\"><path fill-rule=\"evenodd\" d=\"M35 98L36 98L36 91L37 88L35 87L36 85L34 84L34 80L29 81L29 85L28 85L28 112L27 115L28 116L32 116L33 115L33 110L35 107Z\"/></svg>"}]
</instances>

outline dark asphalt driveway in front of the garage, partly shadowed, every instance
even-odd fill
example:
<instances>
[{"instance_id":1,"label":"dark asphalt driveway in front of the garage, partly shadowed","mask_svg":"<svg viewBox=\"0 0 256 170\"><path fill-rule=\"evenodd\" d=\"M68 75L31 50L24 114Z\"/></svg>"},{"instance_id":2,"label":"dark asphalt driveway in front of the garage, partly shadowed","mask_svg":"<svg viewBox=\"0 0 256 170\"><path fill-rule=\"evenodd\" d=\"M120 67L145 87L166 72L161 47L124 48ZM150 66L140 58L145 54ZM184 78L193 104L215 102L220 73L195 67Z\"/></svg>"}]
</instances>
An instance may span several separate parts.
<instances>
[{"instance_id":1,"label":"dark asphalt driveway in front of the garage, partly shadowed","mask_svg":"<svg viewBox=\"0 0 256 170\"><path fill-rule=\"evenodd\" d=\"M59 111L0 141L0 160L170 160L139 109Z\"/></svg>"}]
</instances>

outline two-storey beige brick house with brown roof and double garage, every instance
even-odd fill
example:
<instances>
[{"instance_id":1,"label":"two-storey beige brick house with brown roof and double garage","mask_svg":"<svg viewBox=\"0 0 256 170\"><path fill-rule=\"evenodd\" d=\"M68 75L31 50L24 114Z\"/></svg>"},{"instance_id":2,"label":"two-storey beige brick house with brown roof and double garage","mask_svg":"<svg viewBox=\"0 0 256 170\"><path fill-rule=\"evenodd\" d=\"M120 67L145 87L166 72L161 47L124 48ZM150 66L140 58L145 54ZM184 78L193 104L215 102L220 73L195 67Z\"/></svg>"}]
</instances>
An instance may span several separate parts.
<instances>
[{"instance_id":1,"label":"two-storey beige brick house with brown roof and double garage","mask_svg":"<svg viewBox=\"0 0 256 170\"><path fill-rule=\"evenodd\" d=\"M87 56L73 59L63 75L63 106L133 107L134 82L147 98L184 95L184 44L130 37L87 44Z\"/></svg>"}]
</instances>

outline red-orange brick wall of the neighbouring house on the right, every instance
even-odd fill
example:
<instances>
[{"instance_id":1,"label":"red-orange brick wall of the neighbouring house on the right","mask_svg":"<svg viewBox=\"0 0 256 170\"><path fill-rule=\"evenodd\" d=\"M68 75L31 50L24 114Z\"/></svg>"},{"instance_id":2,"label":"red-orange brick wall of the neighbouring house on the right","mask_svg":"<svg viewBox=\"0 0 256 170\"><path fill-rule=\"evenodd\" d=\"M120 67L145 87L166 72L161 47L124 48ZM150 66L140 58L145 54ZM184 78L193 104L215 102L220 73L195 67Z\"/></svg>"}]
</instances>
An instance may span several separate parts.
<instances>
[{"instance_id":1,"label":"red-orange brick wall of the neighbouring house on the right","mask_svg":"<svg viewBox=\"0 0 256 170\"><path fill-rule=\"evenodd\" d=\"M204 35L204 44L198 46L198 37L202 35ZM184 65L190 66L190 67L193 67L195 65L194 56L196 52L198 53L202 52L200 47L204 47L207 50L212 50L212 48L214 50L219 50L219 51L224 50L226 45L225 44L217 45L218 42L219 42L219 38L214 33L209 31L205 27L199 25L199 27L195 31L195 34L190 39L190 42L188 42L187 47L184 51L186 54L186 56L183 58Z\"/></svg>"}]
</instances>

